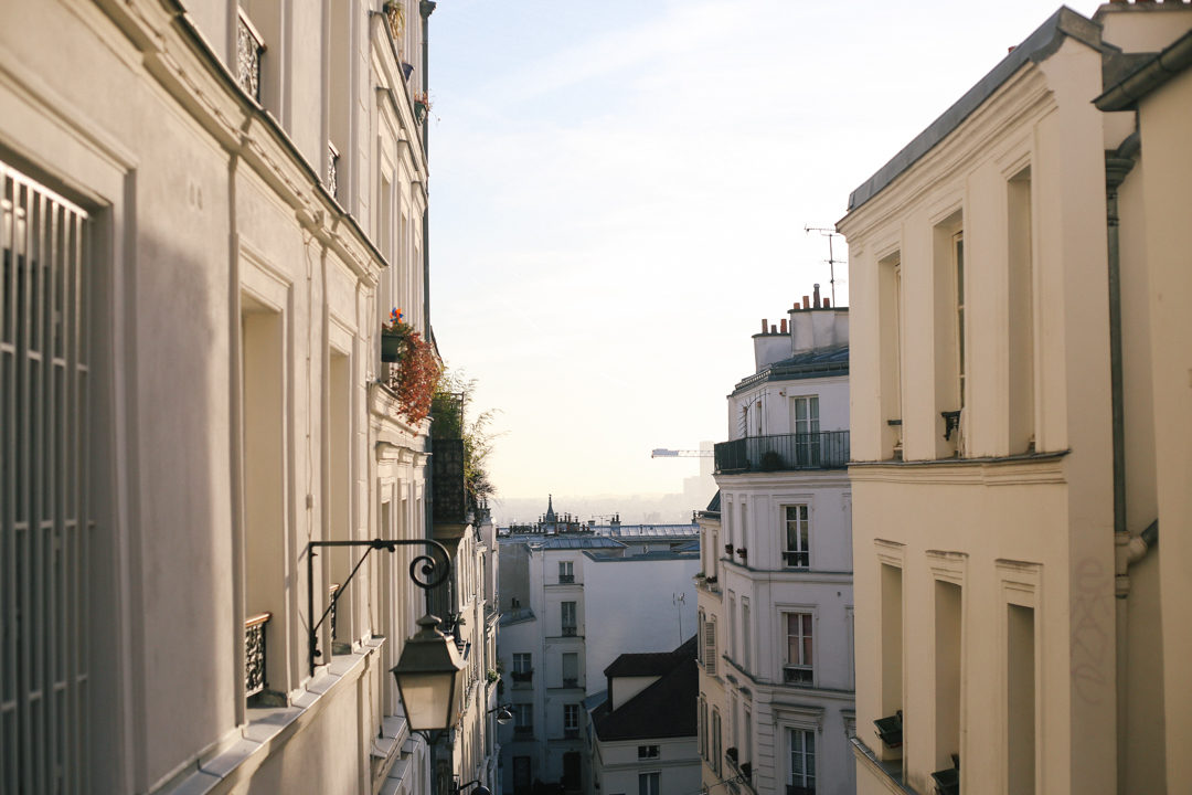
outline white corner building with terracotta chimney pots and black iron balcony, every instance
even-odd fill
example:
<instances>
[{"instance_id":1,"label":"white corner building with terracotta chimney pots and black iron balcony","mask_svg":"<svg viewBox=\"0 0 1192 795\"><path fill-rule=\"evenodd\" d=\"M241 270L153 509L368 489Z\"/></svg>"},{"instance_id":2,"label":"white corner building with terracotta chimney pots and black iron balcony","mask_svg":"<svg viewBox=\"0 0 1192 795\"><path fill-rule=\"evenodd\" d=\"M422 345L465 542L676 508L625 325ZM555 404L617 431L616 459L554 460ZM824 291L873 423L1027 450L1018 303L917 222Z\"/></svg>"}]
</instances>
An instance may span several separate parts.
<instances>
[{"instance_id":1,"label":"white corner building with terracotta chimney pots and black iron balcony","mask_svg":"<svg viewBox=\"0 0 1192 795\"><path fill-rule=\"evenodd\" d=\"M815 304L820 304L817 286ZM703 783L853 791L848 310L755 335L728 397L716 501L700 515Z\"/></svg>"}]
</instances>

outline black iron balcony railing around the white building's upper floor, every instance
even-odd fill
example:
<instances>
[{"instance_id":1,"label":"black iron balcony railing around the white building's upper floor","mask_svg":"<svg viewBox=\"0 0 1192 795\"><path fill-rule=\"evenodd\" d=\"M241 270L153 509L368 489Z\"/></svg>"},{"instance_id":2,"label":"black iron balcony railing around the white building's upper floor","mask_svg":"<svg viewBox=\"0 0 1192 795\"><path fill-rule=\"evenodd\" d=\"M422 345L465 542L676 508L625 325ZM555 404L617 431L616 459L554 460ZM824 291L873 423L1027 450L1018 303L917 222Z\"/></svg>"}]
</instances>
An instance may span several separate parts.
<instances>
[{"instance_id":1,"label":"black iron balcony railing around the white building's upper floor","mask_svg":"<svg viewBox=\"0 0 1192 795\"><path fill-rule=\"evenodd\" d=\"M745 436L714 448L716 474L843 470L849 465L849 431Z\"/></svg>"}]
</instances>

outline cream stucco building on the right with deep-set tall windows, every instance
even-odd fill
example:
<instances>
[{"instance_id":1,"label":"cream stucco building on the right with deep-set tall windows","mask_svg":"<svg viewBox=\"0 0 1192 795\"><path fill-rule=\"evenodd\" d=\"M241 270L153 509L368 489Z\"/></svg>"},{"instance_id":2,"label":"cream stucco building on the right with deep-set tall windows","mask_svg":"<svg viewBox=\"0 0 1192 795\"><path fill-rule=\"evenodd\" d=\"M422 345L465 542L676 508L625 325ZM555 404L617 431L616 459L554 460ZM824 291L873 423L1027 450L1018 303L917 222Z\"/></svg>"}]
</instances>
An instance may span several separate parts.
<instances>
[{"instance_id":1,"label":"cream stucco building on the right with deep-set tall windows","mask_svg":"<svg viewBox=\"0 0 1192 795\"><path fill-rule=\"evenodd\" d=\"M838 224L858 793L1190 781L1187 633L1167 623L1188 596L1190 335L1165 303L1187 294L1186 77L1155 94L1150 151L1093 105L1190 27L1180 2L1061 8Z\"/></svg>"}]
</instances>

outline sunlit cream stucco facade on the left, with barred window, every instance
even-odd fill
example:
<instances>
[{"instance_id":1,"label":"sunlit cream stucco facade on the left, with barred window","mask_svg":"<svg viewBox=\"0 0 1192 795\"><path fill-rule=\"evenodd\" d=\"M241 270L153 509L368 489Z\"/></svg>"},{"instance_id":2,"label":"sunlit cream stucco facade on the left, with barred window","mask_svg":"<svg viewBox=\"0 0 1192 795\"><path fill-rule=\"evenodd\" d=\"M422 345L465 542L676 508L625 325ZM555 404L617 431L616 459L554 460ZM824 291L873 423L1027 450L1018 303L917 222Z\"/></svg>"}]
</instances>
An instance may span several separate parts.
<instances>
[{"instance_id":1,"label":"sunlit cream stucco facade on the left, with barred window","mask_svg":"<svg viewBox=\"0 0 1192 795\"><path fill-rule=\"evenodd\" d=\"M0 789L429 791L389 673L415 552L311 669L362 551L309 594L306 545L430 534L378 337L430 336L434 6L0 6Z\"/></svg>"}]
</instances>

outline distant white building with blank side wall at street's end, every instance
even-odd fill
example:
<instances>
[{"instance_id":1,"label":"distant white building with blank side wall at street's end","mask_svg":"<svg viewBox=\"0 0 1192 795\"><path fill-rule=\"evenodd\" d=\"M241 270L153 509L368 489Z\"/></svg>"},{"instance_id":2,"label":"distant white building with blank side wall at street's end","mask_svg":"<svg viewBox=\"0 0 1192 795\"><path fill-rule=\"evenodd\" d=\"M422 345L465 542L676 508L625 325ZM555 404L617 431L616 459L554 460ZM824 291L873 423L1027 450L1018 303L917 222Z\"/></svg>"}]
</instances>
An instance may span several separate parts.
<instances>
[{"instance_id":1,"label":"distant white building with blank side wall at street's end","mask_svg":"<svg viewBox=\"0 0 1192 795\"><path fill-rule=\"evenodd\" d=\"M697 554L639 549L625 557L625 542L592 526L572 527L499 539L508 590L501 594L498 656L515 716L499 735L507 793L528 793L535 781L585 791L584 702L604 689L604 667L629 650L673 648L681 623L694 632ZM685 540L694 538L693 527Z\"/></svg>"}]
</instances>

